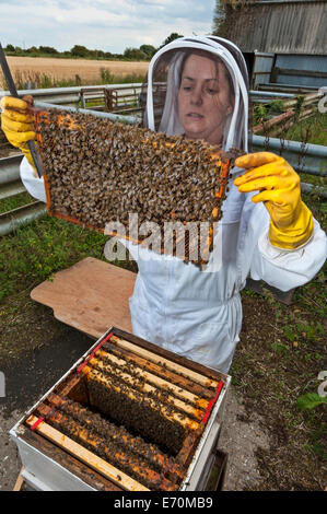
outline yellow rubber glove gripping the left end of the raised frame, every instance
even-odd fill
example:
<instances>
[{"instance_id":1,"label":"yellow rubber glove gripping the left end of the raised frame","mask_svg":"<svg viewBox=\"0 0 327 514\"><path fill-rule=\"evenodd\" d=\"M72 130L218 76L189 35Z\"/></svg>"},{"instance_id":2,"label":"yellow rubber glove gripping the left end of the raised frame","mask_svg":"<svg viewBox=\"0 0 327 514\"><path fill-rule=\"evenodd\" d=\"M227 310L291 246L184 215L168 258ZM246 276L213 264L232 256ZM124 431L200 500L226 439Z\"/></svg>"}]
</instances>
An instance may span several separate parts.
<instances>
[{"instance_id":1,"label":"yellow rubber glove gripping the left end of the raised frame","mask_svg":"<svg viewBox=\"0 0 327 514\"><path fill-rule=\"evenodd\" d=\"M31 105L33 105L33 98L30 95L22 100L14 96L3 96L0 102L1 128L10 144L23 152L28 163L34 167L35 176L37 176L27 147L27 141L36 139L34 115L27 110Z\"/></svg>"}]
</instances>

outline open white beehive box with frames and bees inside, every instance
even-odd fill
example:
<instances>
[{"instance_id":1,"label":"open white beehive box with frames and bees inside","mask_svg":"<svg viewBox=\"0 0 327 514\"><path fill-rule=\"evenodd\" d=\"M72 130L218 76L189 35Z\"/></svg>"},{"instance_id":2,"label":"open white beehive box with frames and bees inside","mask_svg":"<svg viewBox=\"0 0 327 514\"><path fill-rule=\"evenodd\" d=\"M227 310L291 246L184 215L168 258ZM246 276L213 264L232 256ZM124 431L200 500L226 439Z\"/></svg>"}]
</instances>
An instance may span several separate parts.
<instances>
[{"instance_id":1,"label":"open white beehive box with frames and bees inside","mask_svg":"<svg viewBox=\"0 0 327 514\"><path fill-rule=\"evenodd\" d=\"M110 329L12 429L44 489L205 487L230 377Z\"/></svg>"}]
</instances>

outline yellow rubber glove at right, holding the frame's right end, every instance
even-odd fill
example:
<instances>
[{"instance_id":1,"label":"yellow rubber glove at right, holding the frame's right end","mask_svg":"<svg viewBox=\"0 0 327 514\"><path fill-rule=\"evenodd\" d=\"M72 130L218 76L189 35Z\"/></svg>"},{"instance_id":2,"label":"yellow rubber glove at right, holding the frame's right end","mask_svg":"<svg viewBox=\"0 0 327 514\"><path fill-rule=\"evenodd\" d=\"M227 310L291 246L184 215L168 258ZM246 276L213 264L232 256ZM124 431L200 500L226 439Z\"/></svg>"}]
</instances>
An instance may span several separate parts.
<instances>
[{"instance_id":1,"label":"yellow rubber glove at right, holding the frame's right end","mask_svg":"<svg viewBox=\"0 0 327 514\"><path fill-rule=\"evenodd\" d=\"M285 249L306 243L313 233L313 215L301 199L300 177L292 166L270 152L243 155L235 165L248 170L234 180L238 191L260 191L252 201L264 201L270 214L270 243Z\"/></svg>"}]
</instances>

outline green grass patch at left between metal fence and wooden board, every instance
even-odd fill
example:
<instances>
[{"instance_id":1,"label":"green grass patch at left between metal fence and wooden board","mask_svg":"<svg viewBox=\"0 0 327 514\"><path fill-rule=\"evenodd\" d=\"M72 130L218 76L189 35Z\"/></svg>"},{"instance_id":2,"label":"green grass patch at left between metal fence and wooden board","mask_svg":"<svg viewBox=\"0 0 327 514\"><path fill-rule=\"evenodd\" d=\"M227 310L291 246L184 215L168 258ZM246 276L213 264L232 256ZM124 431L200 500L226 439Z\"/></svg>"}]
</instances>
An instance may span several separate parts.
<instances>
[{"instance_id":1,"label":"green grass patch at left between metal fence and wooden board","mask_svg":"<svg viewBox=\"0 0 327 514\"><path fill-rule=\"evenodd\" d=\"M32 288L84 257L104 259L107 236L45 217L0 241L0 300Z\"/></svg>"}]
</instances>

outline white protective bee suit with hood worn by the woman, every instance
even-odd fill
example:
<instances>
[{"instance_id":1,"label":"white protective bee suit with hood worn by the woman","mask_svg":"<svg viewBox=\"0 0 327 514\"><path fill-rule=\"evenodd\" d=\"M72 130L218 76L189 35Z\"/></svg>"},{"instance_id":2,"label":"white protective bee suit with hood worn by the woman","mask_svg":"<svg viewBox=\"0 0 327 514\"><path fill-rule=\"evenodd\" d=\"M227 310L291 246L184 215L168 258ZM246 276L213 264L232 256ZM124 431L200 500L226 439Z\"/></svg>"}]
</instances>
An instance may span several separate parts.
<instances>
[{"instance_id":1,"label":"white protective bee suit with hood worn by the woman","mask_svg":"<svg viewBox=\"0 0 327 514\"><path fill-rule=\"evenodd\" d=\"M234 84L235 107L226 120L224 148L241 147L247 151L247 91L244 70L226 49L240 50L230 42L217 37L180 38L165 46L152 59L148 73L147 120L154 129L152 70L156 60L176 49L168 72L166 102L160 130L183 133L176 113L174 83L180 62L178 50L201 48L219 56L230 71ZM238 54L237 54L238 52ZM245 68L245 66L244 66ZM175 77L176 75L176 77ZM175 78L174 78L175 77ZM174 85L175 84L175 85ZM173 86L170 87L170 85ZM265 280L282 291L310 281L327 256L326 235L317 221L310 242L295 250L273 247L268 240L269 214L264 203L253 203L254 194L242 194L233 179L243 173L234 168L230 191L223 202L223 217L214 236L214 265L201 271L198 267L173 256L157 255L127 241L121 243L137 260L139 273L130 312L133 332L153 343L185 355L207 366L229 372L242 326L240 291L247 277ZM45 201L43 179L33 176L26 159L21 177L36 198Z\"/></svg>"}]
</instances>

